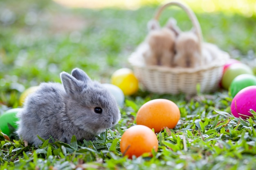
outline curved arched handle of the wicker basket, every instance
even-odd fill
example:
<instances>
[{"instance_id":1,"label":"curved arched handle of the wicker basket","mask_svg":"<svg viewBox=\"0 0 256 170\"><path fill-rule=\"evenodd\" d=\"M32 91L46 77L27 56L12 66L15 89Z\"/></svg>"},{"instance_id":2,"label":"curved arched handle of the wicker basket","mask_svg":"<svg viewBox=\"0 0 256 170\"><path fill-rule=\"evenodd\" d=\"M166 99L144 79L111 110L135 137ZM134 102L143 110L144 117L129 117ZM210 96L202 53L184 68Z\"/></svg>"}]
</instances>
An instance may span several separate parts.
<instances>
[{"instance_id":1,"label":"curved arched handle of the wicker basket","mask_svg":"<svg viewBox=\"0 0 256 170\"><path fill-rule=\"evenodd\" d=\"M195 33L198 36L198 40L199 40L199 49L200 49L200 53L202 54L202 30L200 27L200 24L198 22L198 19L195 16L195 13L186 5L180 3L180 2L176 2L176 1L172 1L172 2L168 2L164 5L162 5L161 7L159 7L159 9L157 10L157 12L155 13L154 19L155 20L159 20L160 14L162 13L162 11L171 5L175 5L178 7L181 7L189 16L189 19L191 20L193 27L195 28Z\"/></svg>"}]
</instances>

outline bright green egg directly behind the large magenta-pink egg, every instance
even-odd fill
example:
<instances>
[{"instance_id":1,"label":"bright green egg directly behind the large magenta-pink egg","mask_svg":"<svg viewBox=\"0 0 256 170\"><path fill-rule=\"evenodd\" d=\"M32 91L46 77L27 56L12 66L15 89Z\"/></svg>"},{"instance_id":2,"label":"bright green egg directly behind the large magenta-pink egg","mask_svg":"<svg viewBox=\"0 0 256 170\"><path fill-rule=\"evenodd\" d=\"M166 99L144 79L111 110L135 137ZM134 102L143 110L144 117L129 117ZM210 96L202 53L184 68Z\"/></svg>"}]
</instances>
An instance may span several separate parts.
<instances>
[{"instance_id":1,"label":"bright green egg directly behind the large magenta-pink egg","mask_svg":"<svg viewBox=\"0 0 256 170\"><path fill-rule=\"evenodd\" d=\"M256 86L256 77L251 74L241 74L236 76L230 84L229 91L232 97L248 86Z\"/></svg>"}]
</instances>

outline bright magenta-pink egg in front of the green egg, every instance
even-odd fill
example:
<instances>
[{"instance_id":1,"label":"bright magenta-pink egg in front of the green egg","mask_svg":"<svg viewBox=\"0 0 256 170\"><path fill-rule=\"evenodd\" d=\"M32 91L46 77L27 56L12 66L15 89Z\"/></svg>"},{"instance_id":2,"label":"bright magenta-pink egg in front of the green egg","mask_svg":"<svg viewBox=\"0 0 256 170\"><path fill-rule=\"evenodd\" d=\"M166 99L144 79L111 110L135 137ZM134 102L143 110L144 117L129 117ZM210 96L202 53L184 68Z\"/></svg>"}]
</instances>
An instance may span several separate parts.
<instances>
[{"instance_id":1,"label":"bright magenta-pink egg in front of the green egg","mask_svg":"<svg viewBox=\"0 0 256 170\"><path fill-rule=\"evenodd\" d=\"M252 116L250 109L256 111L256 86L243 88L235 95L231 102L231 113L234 117L246 119L247 116Z\"/></svg>"}]
</instances>

